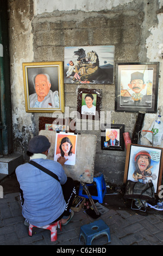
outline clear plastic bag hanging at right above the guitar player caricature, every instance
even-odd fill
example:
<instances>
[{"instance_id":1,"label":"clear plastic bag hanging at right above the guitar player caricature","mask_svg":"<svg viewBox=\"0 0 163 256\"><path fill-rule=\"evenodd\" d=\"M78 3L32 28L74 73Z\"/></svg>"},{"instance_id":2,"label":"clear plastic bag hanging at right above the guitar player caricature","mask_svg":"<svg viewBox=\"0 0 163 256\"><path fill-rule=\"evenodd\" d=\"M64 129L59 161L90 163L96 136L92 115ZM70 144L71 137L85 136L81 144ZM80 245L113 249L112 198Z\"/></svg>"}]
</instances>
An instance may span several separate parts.
<instances>
[{"instance_id":1,"label":"clear plastic bag hanging at right above the guitar player caricature","mask_svg":"<svg viewBox=\"0 0 163 256\"><path fill-rule=\"evenodd\" d=\"M160 145L163 139L163 122L160 120L159 111L157 113L157 118L153 121L151 127L149 127L148 131L153 132L153 145ZM144 136L148 139L149 142L152 143L152 133L147 132Z\"/></svg>"}]
</instances>

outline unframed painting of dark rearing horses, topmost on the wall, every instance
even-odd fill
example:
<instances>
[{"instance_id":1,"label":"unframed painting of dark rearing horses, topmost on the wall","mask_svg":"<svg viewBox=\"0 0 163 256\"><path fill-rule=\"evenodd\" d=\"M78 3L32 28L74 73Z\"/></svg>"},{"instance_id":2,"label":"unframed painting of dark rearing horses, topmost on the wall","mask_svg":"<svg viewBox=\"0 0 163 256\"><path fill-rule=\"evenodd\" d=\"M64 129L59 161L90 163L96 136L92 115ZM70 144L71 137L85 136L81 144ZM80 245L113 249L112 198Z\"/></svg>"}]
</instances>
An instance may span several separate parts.
<instances>
[{"instance_id":1,"label":"unframed painting of dark rearing horses, topmost on the wall","mask_svg":"<svg viewBox=\"0 0 163 256\"><path fill-rule=\"evenodd\" d=\"M64 83L112 84L114 46L65 47Z\"/></svg>"}]
</instances>

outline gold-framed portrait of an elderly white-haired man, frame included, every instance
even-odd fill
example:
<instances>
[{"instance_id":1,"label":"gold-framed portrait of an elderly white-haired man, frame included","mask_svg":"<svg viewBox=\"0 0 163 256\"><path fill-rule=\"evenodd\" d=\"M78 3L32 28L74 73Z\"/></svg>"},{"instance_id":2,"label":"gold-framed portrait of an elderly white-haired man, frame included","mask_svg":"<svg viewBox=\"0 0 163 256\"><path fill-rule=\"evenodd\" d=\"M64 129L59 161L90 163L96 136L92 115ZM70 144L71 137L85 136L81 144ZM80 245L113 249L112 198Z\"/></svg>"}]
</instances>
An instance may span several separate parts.
<instances>
[{"instance_id":1,"label":"gold-framed portrait of an elderly white-haired man, frame included","mask_svg":"<svg viewBox=\"0 0 163 256\"><path fill-rule=\"evenodd\" d=\"M63 62L23 63L26 112L65 111Z\"/></svg>"}]
</instances>

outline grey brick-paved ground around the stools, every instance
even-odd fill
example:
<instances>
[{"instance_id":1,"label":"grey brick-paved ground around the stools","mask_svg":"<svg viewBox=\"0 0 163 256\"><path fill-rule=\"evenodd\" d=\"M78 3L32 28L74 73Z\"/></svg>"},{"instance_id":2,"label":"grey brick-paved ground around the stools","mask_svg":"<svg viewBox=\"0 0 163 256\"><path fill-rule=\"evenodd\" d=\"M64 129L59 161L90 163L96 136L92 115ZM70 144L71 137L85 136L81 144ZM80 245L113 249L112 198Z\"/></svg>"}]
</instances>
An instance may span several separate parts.
<instances>
[{"instance_id":1,"label":"grey brick-paved ground around the stools","mask_svg":"<svg viewBox=\"0 0 163 256\"><path fill-rule=\"evenodd\" d=\"M0 199L0 245L85 245L79 241L80 227L95 221L83 210L74 212L72 221L58 229L58 239L51 242L50 231L34 229L28 236L28 227L23 222L18 193L5 194ZM106 236L99 236L92 245L163 245L163 212L156 210L142 216L131 209L110 207L101 219L110 227L111 243Z\"/></svg>"}]
</instances>

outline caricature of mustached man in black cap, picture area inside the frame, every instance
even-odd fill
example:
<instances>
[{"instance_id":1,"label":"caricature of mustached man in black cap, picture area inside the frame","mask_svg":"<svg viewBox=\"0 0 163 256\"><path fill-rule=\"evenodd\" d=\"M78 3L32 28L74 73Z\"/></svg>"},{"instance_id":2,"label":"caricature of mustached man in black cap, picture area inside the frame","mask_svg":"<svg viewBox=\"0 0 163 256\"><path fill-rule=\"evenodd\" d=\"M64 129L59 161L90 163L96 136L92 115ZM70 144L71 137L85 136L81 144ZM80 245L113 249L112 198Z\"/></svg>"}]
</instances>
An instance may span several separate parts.
<instances>
[{"instance_id":1,"label":"caricature of mustached man in black cap, picture area inside the frame","mask_svg":"<svg viewBox=\"0 0 163 256\"><path fill-rule=\"evenodd\" d=\"M153 69L146 65L120 71L120 106L148 107L152 106Z\"/></svg>"}]
</instances>

